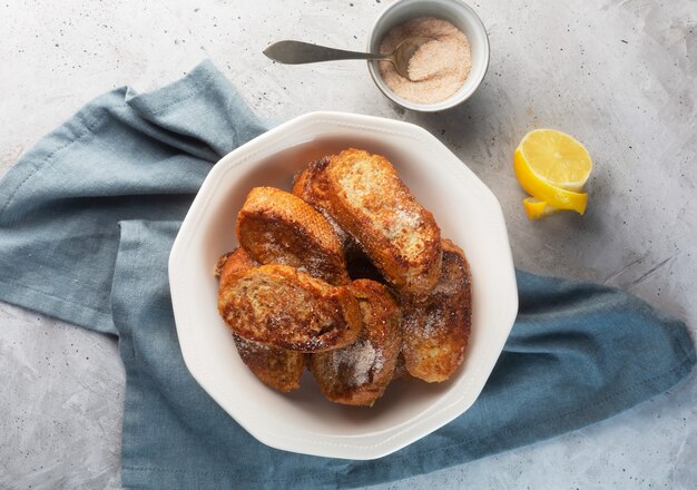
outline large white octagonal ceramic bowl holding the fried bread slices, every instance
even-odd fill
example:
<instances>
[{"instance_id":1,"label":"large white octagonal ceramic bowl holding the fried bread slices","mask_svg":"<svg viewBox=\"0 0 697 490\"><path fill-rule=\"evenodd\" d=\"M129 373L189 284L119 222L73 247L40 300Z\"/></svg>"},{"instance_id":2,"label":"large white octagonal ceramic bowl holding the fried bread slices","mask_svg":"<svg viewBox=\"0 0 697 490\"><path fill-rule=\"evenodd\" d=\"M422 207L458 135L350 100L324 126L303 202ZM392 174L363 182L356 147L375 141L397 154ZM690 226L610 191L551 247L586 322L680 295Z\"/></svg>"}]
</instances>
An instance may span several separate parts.
<instances>
[{"instance_id":1,"label":"large white octagonal ceramic bowl holding the fried bread slices","mask_svg":"<svg viewBox=\"0 0 697 490\"><path fill-rule=\"evenodd\" d=\"M218 316L213 276L218 257L237 245L236 216L253 187L289 189L308 161L351 146L394 164L443 236L464 249L472 270L472 335L463 365L440 384L395 381L370 409L326 401L307 374L289 394L262 384ZM175 241L169 282L181 353L204 390L265 444L346 459L389 454L463 413L484 386L518 311L505 223L487 186L426 130L341 112L301 116L218 161Z\"/></svg>"}]
</instances>

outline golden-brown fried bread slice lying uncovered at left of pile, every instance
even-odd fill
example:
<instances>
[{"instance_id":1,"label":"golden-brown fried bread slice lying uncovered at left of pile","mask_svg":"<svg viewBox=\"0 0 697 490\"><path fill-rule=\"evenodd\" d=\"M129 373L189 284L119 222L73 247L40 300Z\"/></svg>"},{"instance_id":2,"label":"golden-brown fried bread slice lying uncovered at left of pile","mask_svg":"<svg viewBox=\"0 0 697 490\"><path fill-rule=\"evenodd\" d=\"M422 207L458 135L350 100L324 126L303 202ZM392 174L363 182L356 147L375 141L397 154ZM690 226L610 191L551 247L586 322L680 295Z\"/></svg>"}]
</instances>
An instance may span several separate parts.
<instances>
[{"instance_id":1,"label":"golden-brown fried bread slice lying uncovered at left of pile","mask_svg":"<svg viewBox=\"0 0 697 490\"><path fill-rule=\"evenodd\" d=\"M220 290L218 312L239 336L281 349L321 352L353 343L359 302L346 286L283 264L252 268Z\"/></svg>"}]
</instances>

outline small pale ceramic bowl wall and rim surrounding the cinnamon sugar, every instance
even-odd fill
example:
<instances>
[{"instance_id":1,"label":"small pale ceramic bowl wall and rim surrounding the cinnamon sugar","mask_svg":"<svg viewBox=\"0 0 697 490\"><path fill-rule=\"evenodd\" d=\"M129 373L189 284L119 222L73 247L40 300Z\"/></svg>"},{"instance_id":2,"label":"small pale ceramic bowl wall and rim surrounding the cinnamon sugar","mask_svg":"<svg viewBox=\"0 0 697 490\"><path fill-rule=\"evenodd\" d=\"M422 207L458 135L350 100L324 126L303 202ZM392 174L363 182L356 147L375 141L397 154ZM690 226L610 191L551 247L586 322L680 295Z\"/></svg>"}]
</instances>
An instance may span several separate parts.
<instances>
[{"instance_id":1,"label":"small pale ceramic bowl wall and rim surrounding the cinnamon sugar","mask_svg":"<svg viewBox=\"0 0 697 490\"><path fill-rule=\"evenodd\" d=\"M390 7L375 20L367 41L370 52L380 52L380 43L390 30L408 20L418 17L435 17L451 22L470 40L472 68L460 89L440 102L415 104L397 96L380 75L377 61L369 61L367 67L382 92L395 104L406 109L422 112L434 112L454 107L467 100L484 79L489 68L489 37L481 19L472 8L459 0L400 0Z\"/></svg>"}]
</instances>

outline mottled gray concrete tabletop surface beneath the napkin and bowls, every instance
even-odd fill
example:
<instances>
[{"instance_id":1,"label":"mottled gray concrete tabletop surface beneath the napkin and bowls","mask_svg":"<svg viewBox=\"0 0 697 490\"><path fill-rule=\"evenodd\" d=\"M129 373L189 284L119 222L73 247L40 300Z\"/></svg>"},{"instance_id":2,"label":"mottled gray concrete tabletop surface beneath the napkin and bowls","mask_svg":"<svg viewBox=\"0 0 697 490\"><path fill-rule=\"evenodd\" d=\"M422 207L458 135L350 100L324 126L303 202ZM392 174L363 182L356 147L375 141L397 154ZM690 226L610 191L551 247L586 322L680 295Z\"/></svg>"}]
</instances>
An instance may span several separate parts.
<instances>
[{"instance_id":1,"label":"mottled gray concrete tabletop surface beneath the napkin and bowls","mask_svg":"<svg viewBox=\"0 0 697 490\"><path fill-rule=\"evenodd\" d=\"M6 1L0 173L90 98L153 89L212 58L266 118L330 109L422 125L499 197L519 267L622 287L695 334L697 2L473 3L490 71L444 114L392 106L362 62L286 67L261 55L284 38L361 49L387 3ZM575 135L593 156L586 216L524 217L511 157L537 127ZM119 488L114 339L0 305L0 488ZM696 406L693 373L588 429L379 488L694 489Z\"/></svg>"}]
</instances>

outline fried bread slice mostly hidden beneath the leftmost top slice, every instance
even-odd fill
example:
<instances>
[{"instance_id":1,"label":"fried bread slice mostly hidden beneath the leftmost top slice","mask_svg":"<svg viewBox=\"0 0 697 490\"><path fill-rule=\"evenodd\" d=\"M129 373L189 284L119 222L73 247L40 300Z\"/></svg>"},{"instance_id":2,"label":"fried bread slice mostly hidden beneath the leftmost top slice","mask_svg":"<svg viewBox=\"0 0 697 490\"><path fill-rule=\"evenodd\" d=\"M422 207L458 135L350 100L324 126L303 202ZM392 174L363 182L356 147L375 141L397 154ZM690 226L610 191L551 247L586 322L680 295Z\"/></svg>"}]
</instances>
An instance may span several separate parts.
<instances>
[{"instance_id":1,"label":"fried bread slice mostly hidden beneath the leftmost top slice","mask_svg":"<svg viewBox=\"0 0 697 490\"><path fill-rule=\"evenodd\" d=\"M258 265L244 248L223 255L216 266L220 290L227 288L237 277ZM248 341L236 333L233 333L233 339L239 357L264 384L282 392L300 388L305 354Z\"/></svg>"}]
</instances>

